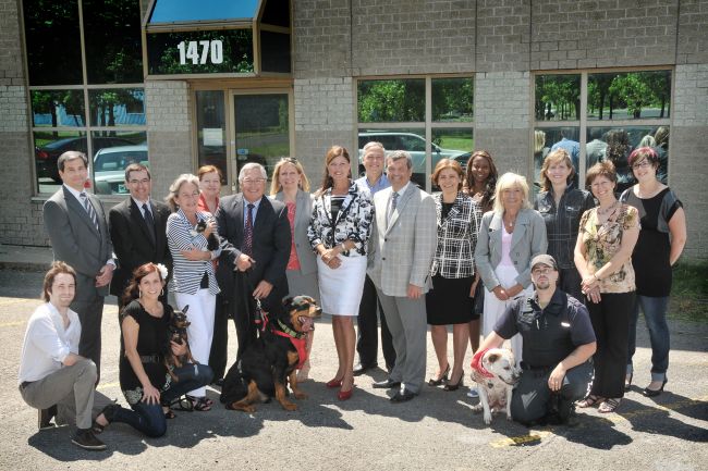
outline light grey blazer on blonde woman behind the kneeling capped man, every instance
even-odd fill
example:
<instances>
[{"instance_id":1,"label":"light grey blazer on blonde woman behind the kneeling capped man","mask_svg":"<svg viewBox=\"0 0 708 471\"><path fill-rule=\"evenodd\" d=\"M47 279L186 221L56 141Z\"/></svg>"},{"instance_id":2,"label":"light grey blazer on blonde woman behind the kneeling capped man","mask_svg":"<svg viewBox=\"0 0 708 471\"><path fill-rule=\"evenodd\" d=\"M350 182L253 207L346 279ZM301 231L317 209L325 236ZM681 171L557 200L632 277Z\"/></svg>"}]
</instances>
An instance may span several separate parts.
<instances>
[{"instance_id":1,"label":"light grey blazer on blonde woman behind the kneeling capped man","mask_svg":"<svg viewBox=\"0 0 708 471\"><path fill-rule=\"evenodd\" d=\"M495 269L501 261L502 215L488 211L481 216L481 227L475 248L475 263L488 290L499 286ZM530 261L539 253L546 253L546 223L533 209L522 209L516 216L516 227L511 238L510 258L518 272L516 283L524 288L530 284Z\"/></svg>"}]
</instances>

